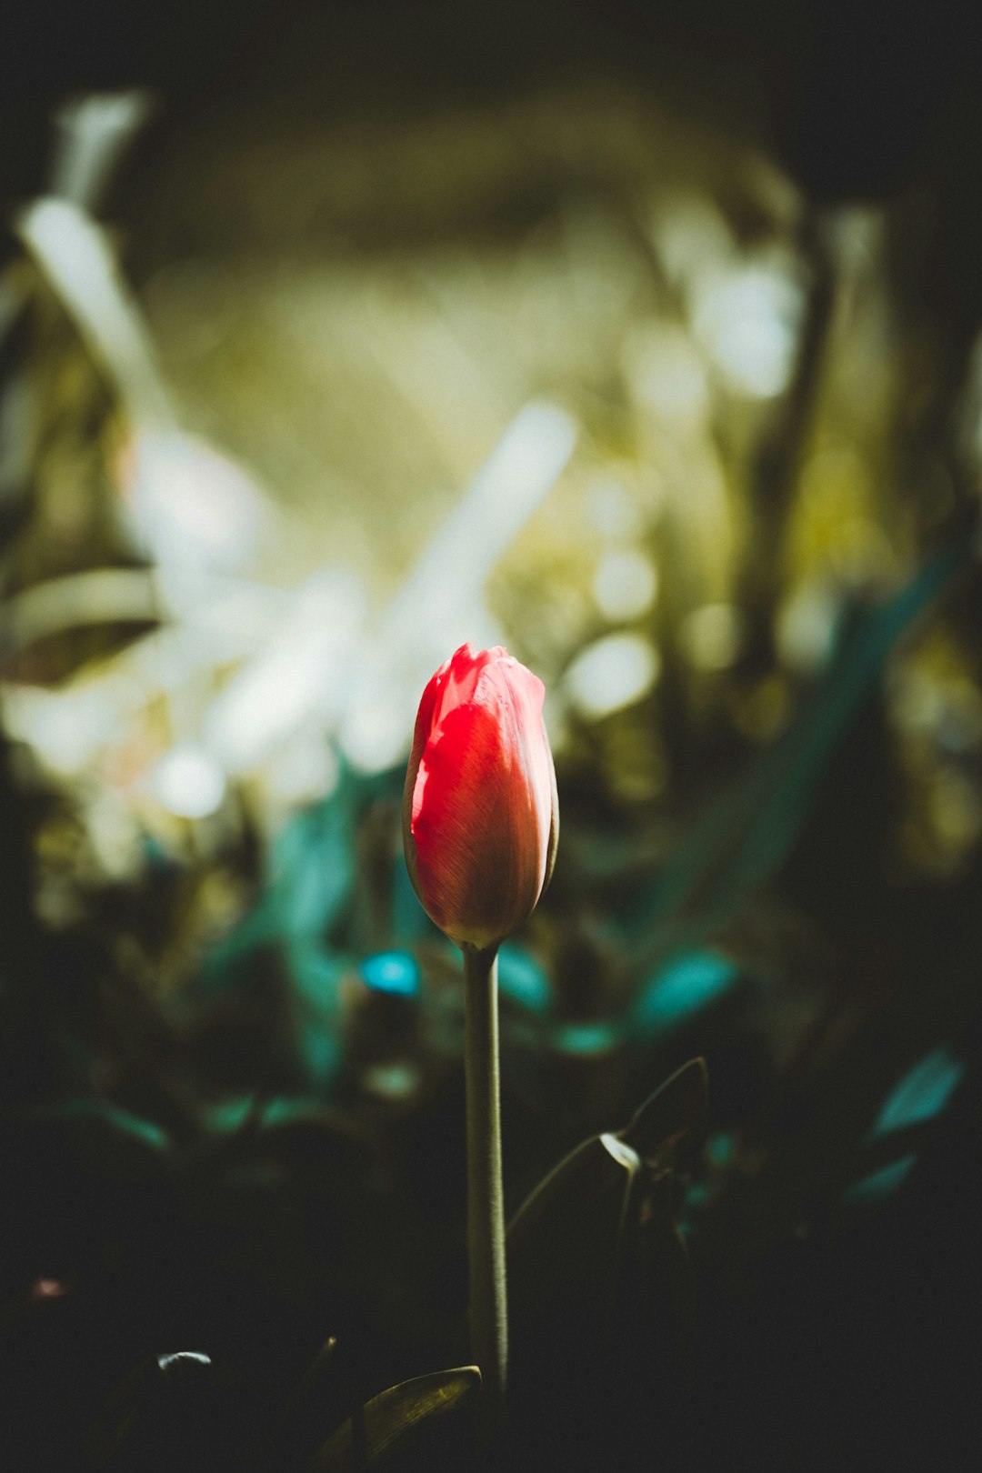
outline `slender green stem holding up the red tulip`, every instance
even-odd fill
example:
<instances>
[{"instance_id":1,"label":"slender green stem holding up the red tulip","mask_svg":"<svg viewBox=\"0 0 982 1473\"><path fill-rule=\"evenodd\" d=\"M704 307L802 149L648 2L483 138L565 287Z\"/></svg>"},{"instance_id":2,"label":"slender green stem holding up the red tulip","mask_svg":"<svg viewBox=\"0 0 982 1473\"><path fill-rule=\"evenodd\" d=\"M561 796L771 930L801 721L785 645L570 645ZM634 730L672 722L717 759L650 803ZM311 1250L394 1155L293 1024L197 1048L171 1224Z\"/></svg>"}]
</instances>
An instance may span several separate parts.
<instances>
[{"instance_id":1,"label":"slender green stem holding up the red tulip","mask_svg":"<svg viewBox=\"0 0 982 1473\"><path fill-rule=\"evenodd\" d=\"M471 1354L481 1373L478 1439L487 1452L504 1423L508 1371L505 1193L501 1175L498 947L464 949L467 1074L467 1252Z\"/></svg>"}]
</instances>

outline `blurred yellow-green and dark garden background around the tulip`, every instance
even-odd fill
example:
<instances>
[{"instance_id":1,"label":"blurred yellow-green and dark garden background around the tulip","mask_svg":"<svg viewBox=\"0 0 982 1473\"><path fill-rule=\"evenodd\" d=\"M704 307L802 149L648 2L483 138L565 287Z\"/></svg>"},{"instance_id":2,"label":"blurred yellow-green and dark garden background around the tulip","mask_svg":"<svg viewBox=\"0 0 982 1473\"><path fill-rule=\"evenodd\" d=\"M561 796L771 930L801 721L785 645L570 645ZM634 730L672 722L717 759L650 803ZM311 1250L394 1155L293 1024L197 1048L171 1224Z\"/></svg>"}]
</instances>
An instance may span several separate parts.
<instances>
[{"instance_id":1,"label":"blurred yellow-green and dark garden background around the tulip","mask_svg":"<svg viewBox=\"0 0 982 1473\"><path fill-rule=\"evenodd\" d=\"M231 1367L225 1439L328 1333L347 1392L459 1361L459 959L399 806L464 639L545 681L562 815L502 953L509 1211L708 1059L668 1466L978 1438L978 43L882 0L21 18L18 1466L85 1466L146 1354Z\"/></svg>"}]
</instances>

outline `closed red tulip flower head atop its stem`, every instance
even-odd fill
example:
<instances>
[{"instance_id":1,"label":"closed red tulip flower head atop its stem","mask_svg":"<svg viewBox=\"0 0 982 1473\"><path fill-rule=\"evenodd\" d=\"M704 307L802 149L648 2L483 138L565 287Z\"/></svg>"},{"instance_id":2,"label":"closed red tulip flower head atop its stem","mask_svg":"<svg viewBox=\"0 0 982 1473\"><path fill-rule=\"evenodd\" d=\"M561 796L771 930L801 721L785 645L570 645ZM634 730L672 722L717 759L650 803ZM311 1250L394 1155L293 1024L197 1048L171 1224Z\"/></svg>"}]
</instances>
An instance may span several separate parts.
<instances>
[{"instance_id":1,"label":"closed red tulip flower head atop its stem","mask_svg":"<svg viewBox=\"0 0 982 1473\"><path fill-rule=\"evenodd\" d=\"M458 946L496 947L534 910L559 832L542 681L470 644L420 701L402 820L409 878Z\"/></svg>"}]
</instances>

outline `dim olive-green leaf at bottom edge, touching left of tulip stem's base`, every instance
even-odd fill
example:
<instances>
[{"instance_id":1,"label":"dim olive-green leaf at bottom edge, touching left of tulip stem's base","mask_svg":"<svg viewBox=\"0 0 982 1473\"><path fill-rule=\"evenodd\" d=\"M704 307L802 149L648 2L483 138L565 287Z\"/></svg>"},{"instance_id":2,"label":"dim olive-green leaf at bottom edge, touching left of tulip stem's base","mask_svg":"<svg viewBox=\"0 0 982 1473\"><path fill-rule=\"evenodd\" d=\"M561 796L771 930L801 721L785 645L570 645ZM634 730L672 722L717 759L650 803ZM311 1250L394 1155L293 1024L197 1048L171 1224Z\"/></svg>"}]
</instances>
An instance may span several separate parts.
<instances>
[{"instance_id":1,"label":"dim olive-green leaf at bottom edge, touching left of tulip stem's base","mask_svg":"<svg viewBox=\"0 0 982 1473\"><path fill-rule=\"evenodd\" d=\"M328 1438L309 1473L355 1473L359 1467L387 1467L403 1457L412 1457L406 1467L425 1466L425 1441L434 1423L459 1414L480 1382L476 1365L462 1365L390 1386Z\"/></svg>"}]
</instances>

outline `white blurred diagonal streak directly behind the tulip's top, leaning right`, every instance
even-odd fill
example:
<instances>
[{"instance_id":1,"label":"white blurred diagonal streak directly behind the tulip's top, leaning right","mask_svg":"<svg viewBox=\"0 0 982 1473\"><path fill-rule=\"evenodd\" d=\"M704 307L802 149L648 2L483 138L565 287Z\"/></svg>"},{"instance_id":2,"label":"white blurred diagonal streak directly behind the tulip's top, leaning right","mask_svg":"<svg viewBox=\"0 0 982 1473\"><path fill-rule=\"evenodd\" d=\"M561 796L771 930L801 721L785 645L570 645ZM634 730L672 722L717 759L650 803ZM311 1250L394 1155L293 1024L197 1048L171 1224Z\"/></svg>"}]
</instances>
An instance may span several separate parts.
<instances>
[{"instance_id":1,"label":"white blurred diagonal streak directly behind the tulip's top, leaning right","mask_svg":"<svg viewBox=\"0 0 982 1473\"><path fill-rule=\"evenodd\" d=\"M546 492L577 439L574 421L549 404L527 404L395 597L359 660L340 745L353 766L399 760L420 692L453 650L493 644L484 583Z\"/></svg>"}]
</instances>

